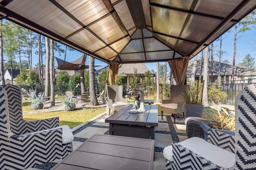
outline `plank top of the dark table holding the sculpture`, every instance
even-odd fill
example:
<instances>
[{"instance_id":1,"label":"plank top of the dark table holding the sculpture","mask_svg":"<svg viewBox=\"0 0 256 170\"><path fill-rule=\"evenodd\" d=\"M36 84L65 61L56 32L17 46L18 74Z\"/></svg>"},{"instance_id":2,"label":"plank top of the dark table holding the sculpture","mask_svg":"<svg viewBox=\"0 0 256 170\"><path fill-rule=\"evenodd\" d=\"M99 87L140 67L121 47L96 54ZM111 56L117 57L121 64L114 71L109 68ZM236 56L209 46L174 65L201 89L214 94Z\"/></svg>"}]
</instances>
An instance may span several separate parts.
<instances>
[{"instance_id":1,"label":"plank top of the dark table holding the sculpture","mask_svg":"<svg viewBox=\"0 0 256 170\"><path fill-rule=\"evenodd\" d=\"M145 105L145 112L143 113L129 113L132 109L132 104L122 108L107 119L106 123L118 123L126 125L144 125L144 126L158 126L158 106Z\"/></svg>"}]
</instances>

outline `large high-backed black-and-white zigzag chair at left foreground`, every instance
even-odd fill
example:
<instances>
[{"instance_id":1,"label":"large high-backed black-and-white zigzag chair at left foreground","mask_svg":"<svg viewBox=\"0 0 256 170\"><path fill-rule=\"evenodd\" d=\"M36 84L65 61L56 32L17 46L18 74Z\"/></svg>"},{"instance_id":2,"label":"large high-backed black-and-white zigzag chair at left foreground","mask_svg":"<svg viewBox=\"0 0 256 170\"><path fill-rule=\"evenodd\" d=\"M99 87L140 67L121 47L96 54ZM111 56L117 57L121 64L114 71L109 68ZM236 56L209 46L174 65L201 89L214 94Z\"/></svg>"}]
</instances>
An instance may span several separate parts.
<instances>
[{"instance_id":1,"label":"large high-backed black-and-white zigzag chair at left foreground","mask_svg":"<svg viewBox=\"0 0 256 170\"><path fill-rule=\"evenodd\" d=\"M64 158L74 139L59 117L24 120L21 90L14 85L0 86L0 136L0 169L16 170Z\"/></svg>"}]
</instances>

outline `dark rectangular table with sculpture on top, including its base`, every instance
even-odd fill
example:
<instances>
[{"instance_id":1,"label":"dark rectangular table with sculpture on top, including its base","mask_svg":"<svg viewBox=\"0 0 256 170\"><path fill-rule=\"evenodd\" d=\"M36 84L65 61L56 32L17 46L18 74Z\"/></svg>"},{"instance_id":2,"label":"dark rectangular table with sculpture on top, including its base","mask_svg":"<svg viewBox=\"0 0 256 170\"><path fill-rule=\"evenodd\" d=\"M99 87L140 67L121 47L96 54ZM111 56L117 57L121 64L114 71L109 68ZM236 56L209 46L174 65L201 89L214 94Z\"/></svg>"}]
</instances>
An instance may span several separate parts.
<instances>
[{"instance_id":1,"label":"dark rectangular table with sculpture on top, including its base","mask_svg":"<svg viewBox=\"0 0 256 170\"><path fill-rule=\"evenodd\" d=\"M158 106L145 105L144 113L129 113L132 104L128 105L107 119L109 134L155 139L155 127L158 126Z\"/></svg>"}]
</instances>

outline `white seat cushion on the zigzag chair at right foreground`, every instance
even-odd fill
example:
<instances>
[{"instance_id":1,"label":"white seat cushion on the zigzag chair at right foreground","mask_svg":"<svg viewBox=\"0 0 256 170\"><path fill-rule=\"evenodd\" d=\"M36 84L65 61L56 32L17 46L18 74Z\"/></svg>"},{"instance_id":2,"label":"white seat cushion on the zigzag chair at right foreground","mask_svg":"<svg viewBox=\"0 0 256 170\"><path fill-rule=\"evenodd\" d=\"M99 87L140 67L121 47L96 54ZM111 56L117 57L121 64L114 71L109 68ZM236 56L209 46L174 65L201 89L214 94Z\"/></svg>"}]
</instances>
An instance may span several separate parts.
<instances>
[{"instance_id":1,"label":"white seat cushion on the zigzag chair at right foreground","mask_svg":"<svg viewBox=\"0 0 256 170\"><path fill-rule=\"evenodd\" d=\"M195 152L203 158L210 160L220 167L230 168L236 162L235 154L233 152L217 147L199 137L192 137L178 144Z\"/></svg>"}]
</instances>

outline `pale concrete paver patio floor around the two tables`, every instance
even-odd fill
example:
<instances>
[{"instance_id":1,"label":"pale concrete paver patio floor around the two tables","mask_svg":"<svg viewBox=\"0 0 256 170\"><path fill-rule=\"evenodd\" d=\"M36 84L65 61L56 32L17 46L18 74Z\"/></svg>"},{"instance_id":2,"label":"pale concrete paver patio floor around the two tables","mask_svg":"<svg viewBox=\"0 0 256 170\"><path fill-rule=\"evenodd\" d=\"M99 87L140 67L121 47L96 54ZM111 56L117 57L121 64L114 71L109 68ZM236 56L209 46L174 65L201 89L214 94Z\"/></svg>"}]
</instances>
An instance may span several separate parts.
<instances>
[{"instance_id":1,"label":"pale concrete paver patio floor around the two tables","mask_svg":"<svg viewBox=\"0 0 256 170\"><path fill-rule=\"evenodd\" d=\"M109 117L108 114L102 113L93 119L82 123L81 125L72 129L74 134L73 150L79 147L84 141L94 134L109 135L109 123L105 120ZM172 120L172 121L171 121ZM176 124L172 124L173 117L164 115L163 120L158 115L158 127L155 129L155 158L154 170L165 170L165 158L162 150L164 147L171 145L172 141L184 141L186 137L186 127L183 118L176 118ZM57 160L55 162L58 162ZM28 168L26 170L39 170L36 168Z\"/></svg>"}]
</instances>

